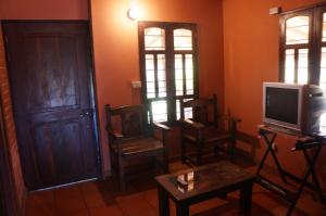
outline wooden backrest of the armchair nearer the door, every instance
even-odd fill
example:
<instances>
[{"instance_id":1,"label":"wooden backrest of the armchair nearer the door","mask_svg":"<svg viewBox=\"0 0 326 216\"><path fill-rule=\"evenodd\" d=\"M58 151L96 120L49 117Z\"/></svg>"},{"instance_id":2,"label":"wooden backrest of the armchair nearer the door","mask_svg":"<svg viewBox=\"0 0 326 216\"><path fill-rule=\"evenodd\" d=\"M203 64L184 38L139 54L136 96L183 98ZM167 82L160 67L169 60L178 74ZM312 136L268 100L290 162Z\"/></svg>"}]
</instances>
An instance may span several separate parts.
<instances>
[{"instance_id":1,"label":"wooden backrest of the armchair nearer the door","mask_svg":"<svg viewBox=\"0 0 326 216\"><path fill-rule=\"evenodd\" d=\"M146 120L145 105L124 105L111 107L105 105L106 127L118 130L124 138L148 136L151 130Z\"/></svg>"}]
</instances>

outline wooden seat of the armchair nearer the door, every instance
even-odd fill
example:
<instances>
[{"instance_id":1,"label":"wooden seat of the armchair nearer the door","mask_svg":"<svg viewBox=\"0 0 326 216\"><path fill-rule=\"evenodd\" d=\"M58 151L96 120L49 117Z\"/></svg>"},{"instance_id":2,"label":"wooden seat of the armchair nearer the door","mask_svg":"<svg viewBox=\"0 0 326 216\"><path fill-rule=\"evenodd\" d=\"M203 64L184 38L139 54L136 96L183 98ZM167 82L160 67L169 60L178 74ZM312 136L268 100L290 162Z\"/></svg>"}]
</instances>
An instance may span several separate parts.
<instances>
[{"instance_id":1,"label":"wooden seat of the armchair nearer the door","mask_svg":"<svg viewBox=\"0 0 326 216\"><path fill-rule=\"evenodd\" d=\"M155 138L140 138L127 140L122 143L123 155L146 154L164 149L163 142Z\"/></svg>"}]
</instances>

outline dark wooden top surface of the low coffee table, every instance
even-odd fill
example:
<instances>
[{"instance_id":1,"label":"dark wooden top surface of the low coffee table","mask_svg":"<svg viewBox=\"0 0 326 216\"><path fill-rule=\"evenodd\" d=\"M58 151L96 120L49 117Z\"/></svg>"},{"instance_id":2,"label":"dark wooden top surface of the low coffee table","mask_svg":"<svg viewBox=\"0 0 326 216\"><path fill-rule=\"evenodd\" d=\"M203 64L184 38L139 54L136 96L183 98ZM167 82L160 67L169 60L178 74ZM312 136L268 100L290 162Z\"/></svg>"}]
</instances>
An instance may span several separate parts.
<instances>
[{"instance_id":1,"label":"dark wooden top surface of the low coffee table","mask_svg":"<svg viewBox=\"0 0 326 216\"><path fill-rule=\"evenodd\" d=\"M174 199L189 198L253 181L255 176L229 162L218 162L155 177Z\"/></svg>"}]
</instances>

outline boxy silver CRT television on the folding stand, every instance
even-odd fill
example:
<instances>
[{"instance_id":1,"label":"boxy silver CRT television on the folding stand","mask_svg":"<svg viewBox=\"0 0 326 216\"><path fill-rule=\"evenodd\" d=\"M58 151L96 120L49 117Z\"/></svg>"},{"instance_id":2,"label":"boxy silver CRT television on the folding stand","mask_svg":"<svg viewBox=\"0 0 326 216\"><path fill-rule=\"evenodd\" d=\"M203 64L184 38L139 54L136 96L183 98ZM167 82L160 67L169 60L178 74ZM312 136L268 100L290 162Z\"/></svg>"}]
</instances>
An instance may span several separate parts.
<instances>
[{"instance_id":1,"label":"boxy silver CRT television on the folding stand","mask_svg":"<svg viewBox=\"0 0 326 216\"><path fill-rule=\"evenodd\" d=\"M289 134L319 132L326 98L315 85L263 82L263 123Z\"/></svg>"}]
</instances>

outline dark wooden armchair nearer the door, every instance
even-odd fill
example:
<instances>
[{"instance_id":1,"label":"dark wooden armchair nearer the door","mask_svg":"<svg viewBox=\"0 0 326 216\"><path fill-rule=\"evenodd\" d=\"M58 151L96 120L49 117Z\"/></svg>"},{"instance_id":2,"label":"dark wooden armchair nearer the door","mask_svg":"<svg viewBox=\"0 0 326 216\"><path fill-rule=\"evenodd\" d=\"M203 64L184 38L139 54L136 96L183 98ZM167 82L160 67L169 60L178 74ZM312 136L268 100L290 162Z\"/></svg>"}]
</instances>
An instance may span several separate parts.
<instances>
[{"instance_id":1,"label":"dark wooden armchair nearer the door","mask_svg":"<svg viewBox=\"0 0 326 216\"><path fill-rule=\"evenodd\" d=\"M167 150L165 147L166 131L170 127L158 124L148 124L145 105L126 105L111 107L105 105L106 131L111 153L111 165L117 173L121 190L125 190L126 162L139 160L139 156L162 155L163 173L168 173ZM153 135L154 129L160 129L162 140Z\"/></svg>"}]
</instances>

